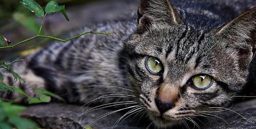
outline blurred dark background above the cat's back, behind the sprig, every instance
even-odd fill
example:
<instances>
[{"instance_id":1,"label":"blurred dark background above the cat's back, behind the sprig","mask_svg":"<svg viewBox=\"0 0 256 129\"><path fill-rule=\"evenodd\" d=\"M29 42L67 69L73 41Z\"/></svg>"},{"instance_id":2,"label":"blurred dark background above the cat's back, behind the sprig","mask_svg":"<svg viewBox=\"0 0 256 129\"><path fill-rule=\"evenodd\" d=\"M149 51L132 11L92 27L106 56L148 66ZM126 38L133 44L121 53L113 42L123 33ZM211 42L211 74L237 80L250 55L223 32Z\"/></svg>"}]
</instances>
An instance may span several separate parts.
<instances>
[{"instance_id":1,"label":"blurred dark background above the cat's back, behind the sprig","mask_svg":"<svg viewBox=\"0 0 256 129\"><path fill-rule=\"evenodd\" d=\"M43 8L51 0L35 0ZM43 34L62 39L83 32L83 26L93 26L102 21L117 20L119 16L137 10L137 0L56 0L65 5L70 18L66 21L62 13L46 16ZM12 44L38 33L41 19L28 11L20 0L0 0L0 34ZM115 30L113 30L115 31ZM72 33L70 33L72 32ZM12 49L0 50L0 61L10 61L20 56L35 53L43 46L54 42L51 39L34 39Z\"/></svg>"}]
</instances>

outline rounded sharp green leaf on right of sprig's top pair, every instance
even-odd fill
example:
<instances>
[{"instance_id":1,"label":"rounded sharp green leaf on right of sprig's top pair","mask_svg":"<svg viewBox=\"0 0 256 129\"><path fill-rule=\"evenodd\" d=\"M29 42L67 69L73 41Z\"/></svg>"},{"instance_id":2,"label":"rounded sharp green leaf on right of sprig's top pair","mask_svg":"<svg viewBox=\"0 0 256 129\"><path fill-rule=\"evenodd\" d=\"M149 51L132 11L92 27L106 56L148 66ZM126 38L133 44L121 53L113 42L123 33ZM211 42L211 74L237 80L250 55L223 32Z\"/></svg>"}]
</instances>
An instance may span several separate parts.
<instances>
[{"instance_id":1,"label":"rounded sharp green leaf on right of sprig's top pair","mask_svg":"<svg viewBox=\"0 0 256 129\"><path fill-rule=\"evenodd\" d=\"M63 9L65 9L65 5L59 6L56 1L52 0L46 5L45 12L46 14L51 14L51 13L59 12Z\"/></svg>"}]
</instances>

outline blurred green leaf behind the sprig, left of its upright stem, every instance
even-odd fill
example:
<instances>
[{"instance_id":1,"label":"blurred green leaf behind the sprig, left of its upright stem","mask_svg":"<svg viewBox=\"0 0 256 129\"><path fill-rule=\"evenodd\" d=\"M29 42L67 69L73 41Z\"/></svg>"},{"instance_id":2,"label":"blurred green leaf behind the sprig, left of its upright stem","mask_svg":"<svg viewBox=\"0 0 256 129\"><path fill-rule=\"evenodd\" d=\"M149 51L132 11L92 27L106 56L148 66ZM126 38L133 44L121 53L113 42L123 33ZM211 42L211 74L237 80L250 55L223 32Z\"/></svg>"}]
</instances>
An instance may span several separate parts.
<instances>
[{"instance_id":1,"label":"blurred green leaf behind the sprig, left of its upright stem","mask_svg":"<svg viewBox=\"0 0 256 129\"><path fill-rule=\"evenodd\" d=\"M40 24L35 20L31 13L15 12L13 18L34 34L39 32Z\"/></svg>"}]
</instances>

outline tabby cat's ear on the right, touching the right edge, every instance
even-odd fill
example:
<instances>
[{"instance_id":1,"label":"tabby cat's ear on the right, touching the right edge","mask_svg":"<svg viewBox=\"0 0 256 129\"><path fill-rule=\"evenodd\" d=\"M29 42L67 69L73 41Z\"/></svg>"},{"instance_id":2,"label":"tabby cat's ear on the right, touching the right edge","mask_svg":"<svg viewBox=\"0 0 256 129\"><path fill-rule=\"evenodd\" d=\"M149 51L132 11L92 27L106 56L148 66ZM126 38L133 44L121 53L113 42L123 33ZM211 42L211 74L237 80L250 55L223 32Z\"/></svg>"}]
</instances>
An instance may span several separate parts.
<instances>
[{"instance_id":1,"label":"tabby cat's ear on the right, touching the right edge","mask_svg":"<svg viewBox=\"0 0 256 129\"><path fill-rule=\"evenodd\" d=\"M256 8L222 26L216 35L224 39L228 47L238 51L240 67L248 66L256 50Z\"/></svg>"}]
</instances>

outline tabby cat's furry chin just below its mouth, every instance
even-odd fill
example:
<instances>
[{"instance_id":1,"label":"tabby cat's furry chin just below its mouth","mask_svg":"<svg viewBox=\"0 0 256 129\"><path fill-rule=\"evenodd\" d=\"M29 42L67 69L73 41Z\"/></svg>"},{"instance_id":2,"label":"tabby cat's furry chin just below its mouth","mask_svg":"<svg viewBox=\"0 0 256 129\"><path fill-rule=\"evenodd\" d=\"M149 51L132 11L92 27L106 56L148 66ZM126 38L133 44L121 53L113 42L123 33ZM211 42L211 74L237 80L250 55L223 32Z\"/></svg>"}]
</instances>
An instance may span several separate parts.
<instances>
[{"instance_id":1,"label":"tabby cat's furry chin just below its mouth","mask_svg":"<svg viewBox=\"0 0 256 129\"><path fill-rule=\"evenodd\" d=\"M155 126L158 126L160 128L172 127L180 124L179 119L167 119L162 116L156 116L153 114L150 114L149 118L154 122Z\"/></svg>"}]
</instances>

